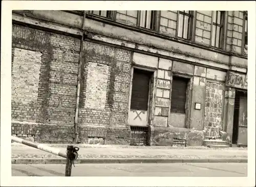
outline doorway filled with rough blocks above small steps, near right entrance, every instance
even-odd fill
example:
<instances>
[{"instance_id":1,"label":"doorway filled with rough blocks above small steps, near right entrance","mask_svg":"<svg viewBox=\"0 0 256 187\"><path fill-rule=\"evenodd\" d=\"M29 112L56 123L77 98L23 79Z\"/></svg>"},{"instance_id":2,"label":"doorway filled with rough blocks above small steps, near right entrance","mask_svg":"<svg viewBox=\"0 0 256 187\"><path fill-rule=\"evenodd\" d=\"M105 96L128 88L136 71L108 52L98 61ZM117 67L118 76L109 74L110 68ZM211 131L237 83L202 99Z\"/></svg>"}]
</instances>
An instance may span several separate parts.
<instances>
[{"instance_id":1,"label":"doorway filled with rough blocks above small steps, near right entrance","mask_svg":"<svg viewBox=\"0 0 256 187\"><path fill-rule=\"evenodd\" d=\"M206 83L204 128L208 136L218 136L222 122L223 84L216 82Z\"/></svg>"}]
</instances>

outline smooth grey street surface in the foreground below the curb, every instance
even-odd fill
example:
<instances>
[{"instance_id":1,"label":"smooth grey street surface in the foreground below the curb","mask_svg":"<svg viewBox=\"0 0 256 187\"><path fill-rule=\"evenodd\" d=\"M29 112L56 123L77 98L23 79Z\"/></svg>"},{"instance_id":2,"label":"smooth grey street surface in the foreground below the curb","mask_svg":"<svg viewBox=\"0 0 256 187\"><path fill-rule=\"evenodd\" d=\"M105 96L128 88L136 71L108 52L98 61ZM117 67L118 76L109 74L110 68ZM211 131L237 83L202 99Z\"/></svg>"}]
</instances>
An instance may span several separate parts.
<instances>
[{"instance_id":1,"label":"smooth grey street surface in the foreground below the curb","mask_svg":"<svg viewBox=\"0 0 256 187\"><path fill-rule=\"evenodd\" d=\"M65 165L12 165L12 176L65 176ZM246 177L247 163L87 163L71 176Z\"/></svg>"}]
</instances>

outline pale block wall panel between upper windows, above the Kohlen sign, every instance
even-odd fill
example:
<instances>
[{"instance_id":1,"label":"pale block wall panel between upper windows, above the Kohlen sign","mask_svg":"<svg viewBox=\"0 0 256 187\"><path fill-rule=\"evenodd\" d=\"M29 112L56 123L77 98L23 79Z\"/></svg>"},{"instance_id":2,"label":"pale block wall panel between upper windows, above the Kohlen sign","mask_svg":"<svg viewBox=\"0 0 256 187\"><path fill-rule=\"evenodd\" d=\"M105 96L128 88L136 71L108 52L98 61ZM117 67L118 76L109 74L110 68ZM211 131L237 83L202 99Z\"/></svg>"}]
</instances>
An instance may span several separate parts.
<instances>
[{"instance_id":1,"label":"pale block wall panel between upper windows, above the Kohlen sign","mask_svg":"<svg viewBox=\"0 0 256 187\"><path fill-rule=\"evenodd\" d=\"M159 32L168 36L176 37L177 11L162 10L160 17Z\"/></svg>"}]
</instances>

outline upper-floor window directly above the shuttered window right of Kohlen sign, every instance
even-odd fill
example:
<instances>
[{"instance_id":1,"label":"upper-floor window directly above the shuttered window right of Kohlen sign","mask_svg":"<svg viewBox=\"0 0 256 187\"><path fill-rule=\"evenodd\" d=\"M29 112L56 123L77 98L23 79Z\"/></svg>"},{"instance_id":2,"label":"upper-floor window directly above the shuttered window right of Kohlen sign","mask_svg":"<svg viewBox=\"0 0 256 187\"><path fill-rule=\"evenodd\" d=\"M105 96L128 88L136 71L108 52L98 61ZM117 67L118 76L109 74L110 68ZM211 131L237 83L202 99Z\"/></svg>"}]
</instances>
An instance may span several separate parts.
<instances>
[{"instance_id":1,"label":"upper-floor window directly above the shuttered window right of Kohlen sign","mask_svg":"<svg viewBox=\"0 0 256 187\"><path fill-rule=\"evenodd\" d=\"M178 37L191 39L193 30L193 12L189 10L179 11L178 14Z\"/></svg>"}]
</instances>

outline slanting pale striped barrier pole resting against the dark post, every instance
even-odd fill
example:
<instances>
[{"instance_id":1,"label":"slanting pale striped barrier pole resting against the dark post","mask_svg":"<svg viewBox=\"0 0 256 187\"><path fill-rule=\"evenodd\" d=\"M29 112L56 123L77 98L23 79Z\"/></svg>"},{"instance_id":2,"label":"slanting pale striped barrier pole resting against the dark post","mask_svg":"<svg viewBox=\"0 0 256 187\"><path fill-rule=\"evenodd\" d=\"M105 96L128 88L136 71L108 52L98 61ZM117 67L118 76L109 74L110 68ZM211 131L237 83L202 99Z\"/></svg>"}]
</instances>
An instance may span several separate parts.
<instances>
[{"instance_id":1,"label":"slanting pale striped barrier pole resting against the dark post","mask_svg":"<svg viewBox=\"0 0 256 187\"><path fill-rule=\"evenodd\" d=\"M30 141L26 141L25 139L22 139L22 138L19 138L19 137L12 136L12 141L20 143L20 144L24 144L24 145L27 145L27 146L30 146L30 147L33 147L33 148L36 148L36 149L40 149L42 151L46 151L48 153L52 153L52 154L55 154L55 155L58 155L58 156L61 156L61 157L64 157L64 158L68 157L65 152L62 152L59 149L49 147L49 146L46 146L46 145L43 145L43 144L37 144L37 143L30 142Z\"/></svg>"}]
</instances>

